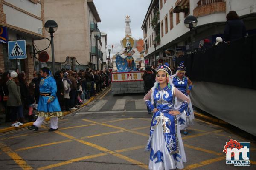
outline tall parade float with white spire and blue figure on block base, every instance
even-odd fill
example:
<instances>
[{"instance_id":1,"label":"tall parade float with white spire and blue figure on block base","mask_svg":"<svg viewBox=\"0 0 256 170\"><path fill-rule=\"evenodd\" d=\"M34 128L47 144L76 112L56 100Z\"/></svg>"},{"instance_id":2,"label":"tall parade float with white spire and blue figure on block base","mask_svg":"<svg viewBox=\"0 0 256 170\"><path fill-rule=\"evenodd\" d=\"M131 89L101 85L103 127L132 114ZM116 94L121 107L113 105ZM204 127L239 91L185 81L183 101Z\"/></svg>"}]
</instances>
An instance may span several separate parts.
<instances>
[{"instance_id":1,"label":"tall parade float with white spire and blue figure on block base","mask_svg":"<svg viewBox=\"0 0 256 170\"><path fill-rule=\"evenodd\" d=\"M112 93L143 93L145 71L144 55L137 50L137 40L131 36L129 16L125 18L125 37L120 41L122 51L113 56ZM140 70L137 71L137 65Z\"/></svg>"}]
</instances>

